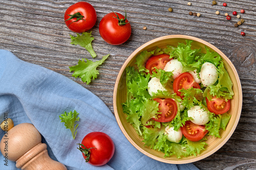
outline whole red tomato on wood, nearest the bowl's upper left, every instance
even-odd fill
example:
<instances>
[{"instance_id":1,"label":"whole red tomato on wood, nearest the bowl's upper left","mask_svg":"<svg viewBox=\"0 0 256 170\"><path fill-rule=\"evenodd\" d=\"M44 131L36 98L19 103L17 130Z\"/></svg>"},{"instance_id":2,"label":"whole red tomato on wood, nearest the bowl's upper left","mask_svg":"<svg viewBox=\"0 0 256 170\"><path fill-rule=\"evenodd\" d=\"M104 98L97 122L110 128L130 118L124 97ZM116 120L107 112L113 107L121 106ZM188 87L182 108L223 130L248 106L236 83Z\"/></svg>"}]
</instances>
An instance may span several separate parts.
<instances>
[{"instance_id":1,"label":"whole red tomato on wood, nearest the bowl's upper left","mask_svg":"<svg viewBox=\"0 0 256 170\"><path fill-rule=\"evenodd\" d=\"M118 12L106 14L99 23L99 33L104 41L119 45L127 41L132 33L131 24Z\"/></svg>"}]
</instances>

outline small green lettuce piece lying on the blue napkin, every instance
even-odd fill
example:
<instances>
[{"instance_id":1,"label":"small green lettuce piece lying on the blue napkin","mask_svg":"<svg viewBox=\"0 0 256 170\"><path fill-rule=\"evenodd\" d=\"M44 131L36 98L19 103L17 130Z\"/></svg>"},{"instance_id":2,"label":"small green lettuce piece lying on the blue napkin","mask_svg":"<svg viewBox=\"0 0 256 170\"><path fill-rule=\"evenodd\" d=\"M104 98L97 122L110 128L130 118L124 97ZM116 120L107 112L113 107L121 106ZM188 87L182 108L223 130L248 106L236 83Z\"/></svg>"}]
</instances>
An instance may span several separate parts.
<instances>
[{"instance_id":1,"label":"small green lettuce piece lying on the blue napkin","mask_svg":"<svg viewBox=\"0 0 256 170\"><path fill-rule=\"evenodd\" d=\"M79 121L79 117L78 114L76 112L76 110L74 110L74 112L70 111L69 113L65 112L63 114L60 114L59 119L61 120L61 122L65 123L66 129L70 129L73 139L75 139L76 137L76 132L77 132L77 127L78 127L78 121Z\"/></svg>"}]
</instances>

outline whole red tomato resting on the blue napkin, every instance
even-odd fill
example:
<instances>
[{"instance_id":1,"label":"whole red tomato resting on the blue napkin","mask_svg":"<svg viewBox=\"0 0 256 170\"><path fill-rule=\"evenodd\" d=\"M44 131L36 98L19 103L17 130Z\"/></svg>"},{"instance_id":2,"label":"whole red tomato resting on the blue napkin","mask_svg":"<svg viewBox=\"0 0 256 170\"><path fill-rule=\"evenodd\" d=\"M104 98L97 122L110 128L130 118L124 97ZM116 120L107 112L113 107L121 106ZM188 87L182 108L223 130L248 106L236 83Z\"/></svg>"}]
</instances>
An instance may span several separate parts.
<instances>
[{"instance_id":1,"label":"whole red tomato resting on the blue napkin","mask_svg":"<svg viewBox=\"0 0 256 170\"><path fill-rule=\"evenodd\" d=\"M115 145L109 135L103 132L91 132L84 136L79 149L82 156L95 166L102 166L110 161L115 152Z\"/></svg>"}]
</instances>

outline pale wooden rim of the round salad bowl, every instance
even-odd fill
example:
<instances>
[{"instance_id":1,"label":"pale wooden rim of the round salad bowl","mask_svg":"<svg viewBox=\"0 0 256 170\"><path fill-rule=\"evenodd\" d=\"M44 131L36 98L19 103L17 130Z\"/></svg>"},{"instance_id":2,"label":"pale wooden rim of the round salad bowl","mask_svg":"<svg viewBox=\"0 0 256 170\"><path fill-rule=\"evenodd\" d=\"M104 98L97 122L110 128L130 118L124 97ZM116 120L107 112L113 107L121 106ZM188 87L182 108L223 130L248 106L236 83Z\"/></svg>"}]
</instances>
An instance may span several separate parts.
<instances>
[{"instance_id":1,"label":"pale wooden rim of the round salad bowl","mask_svg":"<svg viewBox=\"0 0 256 170\"><path fill-rule=\"evenodd\" d=\"M147 45L150 45L154 42L157 42L157 41L160 41L160 40L164 40L164 39L172 39L172 38L180 38L180 39L189 39L189 40L194 40L194 41L198 41L200 43L203 43L204 45L210 47L212 50L214 50L215 52L217 52L218 54L220 54L220 56L228 63L228 65L231 67L231 69L233 70L234 72L234 75L237 75L237 84L238 84L238 89L239 89L239 98L240 98L240 102L239 102L239 110L238 110L238 115L236 117L236 120L234 122L234 125L232 127L232 129L230 130L230 132L228 133L227 137L219 144L217 145L217 147L211 151L209 151L208 153L204 154L204 155L198 155L192 159L186 159L186 160L167 160L167 159L163 159L163 158L159 158L159 157L156 157L155 155L151 154L151 153L148 153L146 152L145 150L141 149L133 140L132 138L127 134L127 132L125 131L125 129L123 128L122 126L122 123L121 123L121 120L118 116L118 112L117 112L117 105L116 105L116 102L117 102L117 87L118 87L118 83L120 81L120 78L121 78L121 75L123 73L123 71L125 70L126 68L126 65L130 62L130 60L136 56L136 54L139 54L140 52L142 52L142 50L147 46ZM234 82L233 82L234 83ZM127 140L129 140L129 142L137 149L139 150L141 153L143 153L144 155L152 158L152 159L155 159L157 161L160 161L160 162L165 162L165 163L170 163L170 164L184 164L184 163L191 163L191 162L196 162L196 161L199 161L199 160L202 160L208 156L210 156L211 154L214 154L216 151L218 151L227 141L228 139L231 137L231 135L233 134L234 130L237 128L237 125L238 125L238 122L239 122L239 119L240 119L240 116L241 116L241 111L242 111L242 87L241 87L241 82L240 82L240 78L238 76L238 72L236 70L236 68L234 67L233 63L229 60L229 58L224 54L222 53L219 48L217 48L216 46L212 45L211 43L207 42L207 41L204 41L200 38L197 38L197 37L193 37L193 36L187 36L187 35L166 35L166 36L162 36L162 37L158 37L158 38L155 38L153 40L150 40L146 43L144 43L143 45L141 45L140 47L138 47L126 60L125 62L123 63L121 69L119 70L119 73L117 75L117 79L116 79L116 82L115 82L115 86L114 86L114 91L113 91L113 106L114 106L114 114L115 114L115 118L117 120L117 124L119 126L119 128L121 129L122 133L124 134L124 136L127 138ZM160 152L160 151L159 151Z\"/></svg>"}]
</instances>

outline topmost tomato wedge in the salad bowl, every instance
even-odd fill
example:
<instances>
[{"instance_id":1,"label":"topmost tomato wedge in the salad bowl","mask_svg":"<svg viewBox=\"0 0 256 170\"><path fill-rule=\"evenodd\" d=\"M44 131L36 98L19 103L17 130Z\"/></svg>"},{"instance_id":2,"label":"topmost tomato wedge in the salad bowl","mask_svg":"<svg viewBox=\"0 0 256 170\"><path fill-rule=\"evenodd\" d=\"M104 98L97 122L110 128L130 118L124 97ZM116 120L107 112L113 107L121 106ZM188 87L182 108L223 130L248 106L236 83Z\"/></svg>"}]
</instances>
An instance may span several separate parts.
<instances>
[{"instance_id":1,"label":"topmost tomato wedge in the salad bowl","mask_svg":"<svg viewBox=\"0 0 256 170\"><path fill-rule=\"evenodd\" d=\"M152 71L156 72L156 68L164 69L164 66L170 60L172 60L172 58L167 54L153 56L146 61L146 69L150 70L150 74L152 75Z\"/></svg>"}]
</instances>

